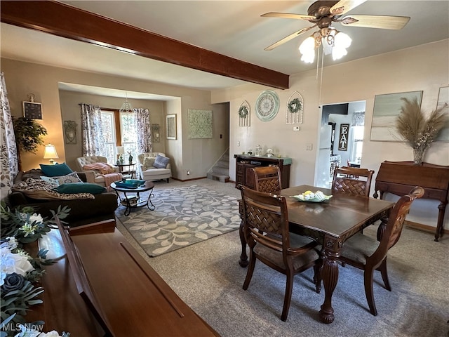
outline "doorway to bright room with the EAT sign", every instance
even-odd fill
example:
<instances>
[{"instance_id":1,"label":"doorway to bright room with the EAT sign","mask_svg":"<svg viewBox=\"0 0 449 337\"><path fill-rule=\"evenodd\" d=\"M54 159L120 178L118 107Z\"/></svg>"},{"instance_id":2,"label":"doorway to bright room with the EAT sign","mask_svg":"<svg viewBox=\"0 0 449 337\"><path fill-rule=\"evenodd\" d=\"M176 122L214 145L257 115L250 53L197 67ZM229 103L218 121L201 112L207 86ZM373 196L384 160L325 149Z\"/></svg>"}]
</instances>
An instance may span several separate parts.
<instances>
[{"instance_id":1,"label":"doorway to bright room with the EAT sign","mask_svg":"<svg viewBox=\"0 0 449 337\"><path fill-rule=\"evenodd\" d=\"M321 107L315 186L330 188L337 166L361 166L365 107L364 100Z\"/></svg>"}]
</instances>

